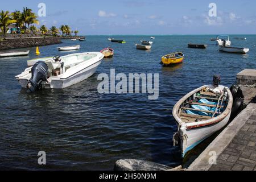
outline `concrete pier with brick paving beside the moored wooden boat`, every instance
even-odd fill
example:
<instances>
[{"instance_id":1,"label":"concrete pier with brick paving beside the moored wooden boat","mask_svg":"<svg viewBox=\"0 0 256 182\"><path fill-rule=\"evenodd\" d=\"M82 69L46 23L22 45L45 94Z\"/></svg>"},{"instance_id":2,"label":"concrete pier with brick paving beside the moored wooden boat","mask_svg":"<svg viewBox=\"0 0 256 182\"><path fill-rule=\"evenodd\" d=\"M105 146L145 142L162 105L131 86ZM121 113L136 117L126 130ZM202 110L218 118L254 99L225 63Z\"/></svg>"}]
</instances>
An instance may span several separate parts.
<instances>
[{"instance_id":1,"label":"concrete pier with brick paving beside the moored wooden boat","mask_svg":"<svg viewBox=\"0 0 256 182\"><path fill-rule=\"evenodd\" d=\"M188 167L191 171L256 171L256 70L238 73L237 84L242 86L245 109L213 140Z\"/></svg>"}]
</instances>

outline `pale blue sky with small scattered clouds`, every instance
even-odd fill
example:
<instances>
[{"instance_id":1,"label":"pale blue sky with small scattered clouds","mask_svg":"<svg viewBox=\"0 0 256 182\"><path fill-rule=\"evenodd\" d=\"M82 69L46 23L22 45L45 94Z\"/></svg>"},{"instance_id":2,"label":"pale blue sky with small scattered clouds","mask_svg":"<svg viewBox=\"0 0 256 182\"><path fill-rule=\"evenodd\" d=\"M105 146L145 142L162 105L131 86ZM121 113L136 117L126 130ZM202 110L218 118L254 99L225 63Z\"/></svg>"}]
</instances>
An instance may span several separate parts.
<instances>
[{"instance_id":1,"label":"pale blue sky with small scattered clouds","mask_svg":"<svg viewBox=\"0 0 256 182\"><path fill-rule=\"evenodd\" d=\"M2 1L0 10L38 12L46 4L47 27L68 24L81 35L127 34L255 34L256 1L217 0L94 0ZM209 17L209 3L217 5L217 17Z\"/></svg>"}]
</instances>

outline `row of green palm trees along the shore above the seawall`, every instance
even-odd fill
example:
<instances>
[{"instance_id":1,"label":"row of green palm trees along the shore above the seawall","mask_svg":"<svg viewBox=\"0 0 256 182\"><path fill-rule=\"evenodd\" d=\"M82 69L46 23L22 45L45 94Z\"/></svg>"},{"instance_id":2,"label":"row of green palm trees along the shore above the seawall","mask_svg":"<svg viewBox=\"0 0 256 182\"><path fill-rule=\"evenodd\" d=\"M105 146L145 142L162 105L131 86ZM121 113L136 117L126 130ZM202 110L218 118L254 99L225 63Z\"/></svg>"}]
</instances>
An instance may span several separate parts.
<instances>
[{"instance_id":1,"label":"row of green palm trees along the shore above the seawall","mask_svg":"<svg viewBox=\"0 0 256 182\"><path fill-rule=\"evenodd\" d=\"M29 9L23 7L22 11L15 10L10 13L9 11L0 12L0 34L6 37L6 34L33 34L43 36L75 36L79 31L72 31L71 27L67 24L61 25L60 28L52 26L47 28L44 24L39 26L40 22L38 16Z\"/></svg>"}]
</instances>

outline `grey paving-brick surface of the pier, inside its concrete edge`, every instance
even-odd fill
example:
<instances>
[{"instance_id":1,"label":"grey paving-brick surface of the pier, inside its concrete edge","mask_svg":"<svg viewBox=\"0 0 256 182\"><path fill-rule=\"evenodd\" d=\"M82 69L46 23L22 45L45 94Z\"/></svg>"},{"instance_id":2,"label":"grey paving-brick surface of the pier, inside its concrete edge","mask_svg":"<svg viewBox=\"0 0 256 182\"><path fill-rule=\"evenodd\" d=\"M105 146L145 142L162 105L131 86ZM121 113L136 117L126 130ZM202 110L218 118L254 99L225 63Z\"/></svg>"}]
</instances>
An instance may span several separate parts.
<instances>
[{"instance_id":1,"label":"grey paving-brick surface of the pier, inside its concrete edge","mask_svg":"<svg viewBox=\"0 0 256 182\"><path fill-rule=\"evenodd\" d=\"M256 114L247 119L210 171L256 171Z\"/></svg>"}]
</instances>

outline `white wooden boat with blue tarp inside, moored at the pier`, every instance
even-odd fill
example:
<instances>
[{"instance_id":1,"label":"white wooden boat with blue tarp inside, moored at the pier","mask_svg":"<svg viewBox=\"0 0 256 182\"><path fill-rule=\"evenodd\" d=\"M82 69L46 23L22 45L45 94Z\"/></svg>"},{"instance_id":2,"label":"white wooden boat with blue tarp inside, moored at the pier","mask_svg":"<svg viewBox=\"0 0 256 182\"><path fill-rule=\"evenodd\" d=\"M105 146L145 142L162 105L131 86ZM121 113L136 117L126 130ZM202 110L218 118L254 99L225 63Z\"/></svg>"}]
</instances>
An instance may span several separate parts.
<instances>
[{"instance_id":1,"label":"white wooden boat with blue tarp inside, moored at the pier","mask_svg":"<svg viewBox=\"0 0 256 182\"><path fill-rule=\"evenodd\" d=\"M179 129L173 140L180 143L183 157L228 123L232 104L232 93L221 85L201 86L177 102L172 114Z\"/></svg>"}]
</instances>

